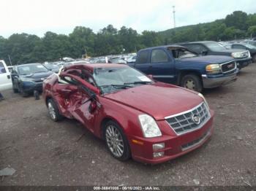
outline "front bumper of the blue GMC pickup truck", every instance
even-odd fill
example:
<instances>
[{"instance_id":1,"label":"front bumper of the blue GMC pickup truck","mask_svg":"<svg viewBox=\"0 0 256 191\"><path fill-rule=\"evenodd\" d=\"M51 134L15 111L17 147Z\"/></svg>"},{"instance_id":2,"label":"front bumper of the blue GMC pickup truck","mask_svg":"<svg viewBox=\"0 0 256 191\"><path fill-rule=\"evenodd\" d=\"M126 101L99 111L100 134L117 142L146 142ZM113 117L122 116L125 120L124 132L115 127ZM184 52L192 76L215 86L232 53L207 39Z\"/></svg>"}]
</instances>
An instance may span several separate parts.
<instances>
[{"instance_id":1,"label":"front bumper of the blue GMC pickup truck","mask_svg":"<svg viewBox=\"0 0 256 191\"><path fill-rule=\"evenodd\" d=\"M202 74L203 87L204 88L213 88L219 87L221 85L227 85L232 82L236 82L236 74L238 74L239 69L236 69L233 74L217 74L217 75L206 75Z\"/></svg>"}]
</instances>

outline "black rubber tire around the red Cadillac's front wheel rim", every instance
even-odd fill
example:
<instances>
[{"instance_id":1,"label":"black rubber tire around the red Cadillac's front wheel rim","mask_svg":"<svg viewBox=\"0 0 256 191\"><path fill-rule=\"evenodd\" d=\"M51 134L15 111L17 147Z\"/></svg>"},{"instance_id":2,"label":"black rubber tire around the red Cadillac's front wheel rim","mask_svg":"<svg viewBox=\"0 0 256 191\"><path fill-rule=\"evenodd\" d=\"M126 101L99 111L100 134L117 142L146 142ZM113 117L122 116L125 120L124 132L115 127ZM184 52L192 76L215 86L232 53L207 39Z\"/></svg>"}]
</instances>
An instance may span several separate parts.
<instances>
[{"instance_id":1,"label":"black rubber tire around the red Cadillac's front wheel rim","mask_svg":"<svg viewBox=\"0 0 256 191\"><path fill-rule=\"evenodd\" d=\"M113 147L111 148L110 147L110 143L109 143L109 134L108 134L108 128L110 127L113 127L115 128L115 132L118 132L120 136L116 136L116 138L118 139L118 143L121 144L121 139L122 139L122 144L123 144L123 152L121 153L121 155L115 155L114 154L114 151L113 151ZM105 143L106 143L106 146L108 148L108 151L110 152L110 154L115 157L116 159L118 160L121 160L121 161L125 161L125 160L128 160L130 157L131 157L131 151L130 151L130 148L129 148L129 143L127 141L127 138L126 136L124 135L124 132L123 130L119 127L119 125L116 123L116 122L113 122L113 121L108 121L106 124L105 124L105 127L104 127L104 138L105 138ZM119 148L121 147L121 145L119 145ZM116 148L116 151L118 150L118 148Z\"/></svg>"}]
</instances>

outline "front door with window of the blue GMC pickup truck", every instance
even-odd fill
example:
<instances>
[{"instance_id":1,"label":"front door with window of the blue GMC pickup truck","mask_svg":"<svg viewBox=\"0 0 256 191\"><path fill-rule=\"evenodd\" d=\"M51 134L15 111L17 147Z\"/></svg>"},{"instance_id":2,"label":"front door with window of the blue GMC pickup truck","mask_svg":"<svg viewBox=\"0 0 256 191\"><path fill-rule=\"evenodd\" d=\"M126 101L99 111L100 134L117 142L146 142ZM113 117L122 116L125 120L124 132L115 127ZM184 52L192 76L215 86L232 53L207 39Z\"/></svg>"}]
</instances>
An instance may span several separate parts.
<instances>
[{"instance_id":1,"label":"front door with window of the blue GMC pickup truck","mask_svg":"<svg viewBox=\"0 0 256 191\"><path fill-rule=\"evenodd\" d=\"M175 64L167 50L154 49L151 51L151 67L149 74L160 82L175 82Z\"/></svg>"}]
</instances>

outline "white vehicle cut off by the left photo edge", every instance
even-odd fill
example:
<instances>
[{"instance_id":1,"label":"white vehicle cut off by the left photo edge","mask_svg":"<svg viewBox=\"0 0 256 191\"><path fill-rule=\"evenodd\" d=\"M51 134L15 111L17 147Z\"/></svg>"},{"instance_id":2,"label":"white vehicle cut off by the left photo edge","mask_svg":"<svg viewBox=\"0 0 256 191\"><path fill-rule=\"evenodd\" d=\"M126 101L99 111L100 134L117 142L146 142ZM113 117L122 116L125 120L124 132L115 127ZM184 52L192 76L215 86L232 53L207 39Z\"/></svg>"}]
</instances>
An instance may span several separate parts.
<instances>
[{"instance_id":1,"label":"white vehicle cut off by the left photo edge","mask_svg":"<svg viewBox=\"0 0 256 191\"><path fill-rule=\"evenodd\" d=\"M12 88L12 79L10 71L4 60L0 60L0 91Z\"/></svg>"}]
</instances>

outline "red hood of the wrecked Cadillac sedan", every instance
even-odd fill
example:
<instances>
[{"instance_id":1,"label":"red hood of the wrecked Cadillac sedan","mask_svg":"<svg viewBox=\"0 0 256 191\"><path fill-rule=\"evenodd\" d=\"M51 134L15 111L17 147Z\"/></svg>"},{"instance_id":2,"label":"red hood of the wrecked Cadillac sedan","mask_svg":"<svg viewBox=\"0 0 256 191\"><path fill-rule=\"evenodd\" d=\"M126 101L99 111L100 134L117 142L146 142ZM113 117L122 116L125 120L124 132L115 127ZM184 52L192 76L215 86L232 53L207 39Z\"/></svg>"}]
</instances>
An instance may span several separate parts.
<instances>
[{"instance_id":1,"label":"red hood of the wrecked Cadillac sedan","mask_svg":"<svg viewBox=\"0 0 256 191\"><path fill-rule=\"evenodd\" d=\"M131 87L104 97L149 114L155 120L187 111L203 101L197 93L161 82Z\"/></svg>"}]
</instances>

